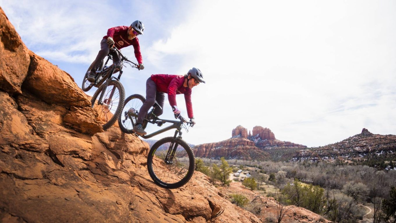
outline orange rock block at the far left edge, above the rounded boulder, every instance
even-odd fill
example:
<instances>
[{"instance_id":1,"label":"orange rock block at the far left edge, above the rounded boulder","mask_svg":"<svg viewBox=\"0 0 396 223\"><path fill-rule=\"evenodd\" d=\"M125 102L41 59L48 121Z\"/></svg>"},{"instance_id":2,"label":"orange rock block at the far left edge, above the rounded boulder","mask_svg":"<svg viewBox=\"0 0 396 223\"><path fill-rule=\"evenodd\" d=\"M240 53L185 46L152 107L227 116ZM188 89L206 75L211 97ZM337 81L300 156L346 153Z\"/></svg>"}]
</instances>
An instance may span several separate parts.
<instances>
[{"instance_id":1,"label":"orange rock block at the far left edge, above the rounded boulder","mask_svg":"<svg viewBox=\"0 0 396 223\"><path fill-rule=\"evenodd\" d=\"M0 89L21 93L29 68L28 49L0 7Z\"/></svg>"}]
</instances>

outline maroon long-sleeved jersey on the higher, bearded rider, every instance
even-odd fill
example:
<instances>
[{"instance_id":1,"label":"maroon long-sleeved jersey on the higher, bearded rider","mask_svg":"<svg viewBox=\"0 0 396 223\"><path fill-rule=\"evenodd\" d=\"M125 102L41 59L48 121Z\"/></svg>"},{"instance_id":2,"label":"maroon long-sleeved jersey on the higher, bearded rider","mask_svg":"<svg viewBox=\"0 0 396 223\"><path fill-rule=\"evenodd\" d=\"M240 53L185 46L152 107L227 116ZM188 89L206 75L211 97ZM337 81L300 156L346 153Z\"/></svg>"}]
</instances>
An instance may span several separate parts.
<instances>
[{"instance_id":1,"label":"maroon long-sleeved jersey on the higher, bearded rider","mask_svg":"<svg viewBox=\"0 0 396 223\"><path fill-rule=\"evenodd\" d=\"M139 45L139 39L137 37L133 39L128 39L128 26L117 26L117 27L112 27L107 30L107 35L104 36L104 39L107 39L107 37L111 37L114 40L114 46L118 50L121 48L127 47L132 45L133 48L135 49L135 57L138 63L143 63L142 59L142 54L140 53L140 45Z\"/></svg>"}]
</instances>

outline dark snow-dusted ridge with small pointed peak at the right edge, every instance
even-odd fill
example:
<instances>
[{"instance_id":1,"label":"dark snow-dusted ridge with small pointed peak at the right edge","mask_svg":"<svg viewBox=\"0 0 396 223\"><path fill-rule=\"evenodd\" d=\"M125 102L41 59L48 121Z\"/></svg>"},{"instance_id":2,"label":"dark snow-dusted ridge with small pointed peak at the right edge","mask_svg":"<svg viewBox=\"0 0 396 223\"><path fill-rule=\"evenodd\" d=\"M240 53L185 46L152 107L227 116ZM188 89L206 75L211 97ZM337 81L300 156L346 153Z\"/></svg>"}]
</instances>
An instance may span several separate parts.
<instances>
[{"instance_id":1,"label":"dark snow-dusted ridge with small pointed peak at the right edge","mask_svg":"<svg viewBox=\"0 0 396 223\"><path fill-rule=\"evenodd\" d=\"M290 161L335 161L362 159L372 154L394 154L396 135L379 135L363 129L362 133L341 142L295 152Z\"/></svg>"}]
</instances>

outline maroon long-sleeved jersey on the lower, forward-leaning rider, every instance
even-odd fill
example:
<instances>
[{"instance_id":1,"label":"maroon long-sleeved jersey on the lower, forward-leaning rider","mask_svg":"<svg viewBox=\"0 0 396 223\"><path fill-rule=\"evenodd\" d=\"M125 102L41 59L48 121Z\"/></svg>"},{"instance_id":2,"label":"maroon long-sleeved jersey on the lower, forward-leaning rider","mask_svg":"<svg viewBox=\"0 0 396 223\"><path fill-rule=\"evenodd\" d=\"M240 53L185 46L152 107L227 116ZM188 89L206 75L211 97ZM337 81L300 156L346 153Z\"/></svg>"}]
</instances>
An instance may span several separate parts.
<instances>
[{"instance_id":1,"label":"maroon long-sleeved jersey on the lower, forward-leaning rider","mask_svg":"<svg viewBox=\"0 0 396 223\"><path fill-rule=\"evenodd\" d=\"M171 106L177 106L176 94L184 94L188 117L194 117L191 103L191 89L183 87L185 80L183 75L153 74L151 75L151 79L157 85L158 92L168 93L168 100Z\"/></svg>"}]
</instances>

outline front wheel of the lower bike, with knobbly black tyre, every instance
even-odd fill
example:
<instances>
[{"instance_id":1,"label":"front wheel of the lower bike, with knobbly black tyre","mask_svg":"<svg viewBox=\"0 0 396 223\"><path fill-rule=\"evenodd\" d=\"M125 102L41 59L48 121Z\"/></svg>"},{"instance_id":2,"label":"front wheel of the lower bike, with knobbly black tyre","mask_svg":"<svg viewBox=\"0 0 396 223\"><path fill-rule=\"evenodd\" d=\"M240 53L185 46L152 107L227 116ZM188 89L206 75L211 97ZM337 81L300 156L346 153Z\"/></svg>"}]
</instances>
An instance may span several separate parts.
<instances>
[{"instance_id":1,"label":"front wheel of the lower bike, with knobbly black tyre","mask_svg":"<svg viewBox=\"0 0 396 223\"><path fill-rule=\"evenodd\" d=\"M173 137L158 140L147 157L147 169L151 179L157 185L169 189L185 185L191 179L195 167L194 153L187 142L177 138L169 149L172 140Z\"/></svg>"}]
</instances>

